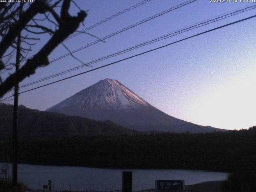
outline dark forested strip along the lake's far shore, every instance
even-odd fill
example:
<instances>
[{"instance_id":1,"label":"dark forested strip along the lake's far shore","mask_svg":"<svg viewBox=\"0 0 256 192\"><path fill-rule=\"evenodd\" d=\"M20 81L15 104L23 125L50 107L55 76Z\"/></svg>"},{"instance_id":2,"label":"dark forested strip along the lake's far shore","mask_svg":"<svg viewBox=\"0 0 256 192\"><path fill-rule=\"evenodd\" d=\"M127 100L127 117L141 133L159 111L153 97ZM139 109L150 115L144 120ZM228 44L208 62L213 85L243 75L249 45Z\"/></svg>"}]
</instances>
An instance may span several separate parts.
<instances>
[{"instance_id":1,"label":"dark forested strip along the lake's far shore","mask_svg":"<svg viewBox=\"0 0 256 192\"><path fill-rule=\"evenodd\" d=\"M0 144L0 161L12 158ZM103 168L166 168L233 172L256 168L256 128L212 133L73 137L18 144L26 164Z\"/></svg>"}]
</instances>

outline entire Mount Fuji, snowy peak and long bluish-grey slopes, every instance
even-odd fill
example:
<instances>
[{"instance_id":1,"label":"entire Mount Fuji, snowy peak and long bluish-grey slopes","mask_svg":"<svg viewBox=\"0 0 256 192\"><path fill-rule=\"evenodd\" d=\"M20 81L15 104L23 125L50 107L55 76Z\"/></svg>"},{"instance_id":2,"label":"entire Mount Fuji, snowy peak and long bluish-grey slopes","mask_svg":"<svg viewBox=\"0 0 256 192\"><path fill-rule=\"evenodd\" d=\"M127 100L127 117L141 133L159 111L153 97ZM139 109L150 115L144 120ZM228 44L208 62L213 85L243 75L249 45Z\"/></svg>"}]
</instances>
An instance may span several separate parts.
<instances>
[{"instance_id":1,"label":"entire Mount Fuji, snowy peak and long bluish-grey slopes","mask_svg":"<svg viewBox=\"0 0 256 192\"><path fill-rule=\"evenodd\" d=\"M46 111L112 120L138 131L212 132L221 129L186 122L158 110L117 80L105 79Z\"/></svg>"}]
</instances>

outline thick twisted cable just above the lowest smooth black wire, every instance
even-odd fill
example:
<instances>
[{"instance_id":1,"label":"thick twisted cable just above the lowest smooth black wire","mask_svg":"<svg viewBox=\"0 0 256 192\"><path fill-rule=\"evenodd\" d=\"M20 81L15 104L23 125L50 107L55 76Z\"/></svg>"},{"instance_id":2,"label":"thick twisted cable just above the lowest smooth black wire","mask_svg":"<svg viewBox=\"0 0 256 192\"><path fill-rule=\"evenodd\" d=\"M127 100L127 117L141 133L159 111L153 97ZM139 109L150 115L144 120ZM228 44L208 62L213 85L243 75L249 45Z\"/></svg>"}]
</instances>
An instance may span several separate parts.
<instances>
[{"instance_id":1,"label":"thick twisted cable just above the lowest smooth black wire","mask_svg":"<svg viewBox=\"0 0 256 192\"><path fill-rule=\"evenodd\" d=\"M189 26L189 27L187 27L187 28L182 28L181 30L177 30L177 31L175 31L175 32L166 34L166 35L164 35L164 36L160 36L160 37L155 38L155 39L153 39L153 40L149 40L149 41L143 42L142 44L138 44L138 45L136 45L136 46L133 46L133 47L130 47L130 48L121 50L121 51L119 51L119 52L115 52L115 53L110 54L110 55L108 55L108 56L104 56L104 57L102 57L102 58L98 58L98 59L93 60L93 61L91 61L91 62L88 62L88 63L86 63L86 64L82 64L82 65L76 66L76 67L74 67L74 68L70 68L70 69L68 69L68 70L64 70L64 71L62 71L62 72L58 72L58 73L53 74L53 75L51 75L51 76L41 78L41 79L36 80L36 81L34 81L34 82L30 82L30 83L28 83L28 84L24 84L24 85L20 86L20 88L22 88L22 87L27 87L27 86L30 86L30 85L33 85L33 84L37 84L37 83L39 83L39 82L43 82L43 81L48 80L48 79L51 79L51 78L55 78L55 77L57 77L57 76L66 74L66 73L68 73L68 72L71 72L71 71L74 71L74 70L78 70L78 69L83 68L83 67L86 67L86 66L88 66L88 65L92 65L92 64L98 63L98 62L103 61L103 60L106 60L106 59L108 59L108 58L112 58L112 57L114 57L114 56L118 56L118 55L120 55L120 54L124 54L124 53L126 53L126 52L130 52L130 51L135 50L135 49L137 49L137 48L140 48L140 47L143 47L143 46L146 46L146 45L149 45L149 44L158 42L158 41L160 41L160 40L164 40L164 39L166 39L166 38L170 38L170 37L172 37L172 36L181 34L181 33L183 33L183 32L187 32L187 31L189 31L189 30L192 30L192 29L195 29L195 28L199 28L199 27L205 26L205 25L207 25L207 24L211 24L211 23L213 23L213 22L217 22L217 21L219 21L219 20L228 18L228 17L230 17L230 16L234 16L234 15L236 15L236 14L240 14L240 13L242 13L242 12L245 12L245 11L248 11L248 10L252 10L252 9L255 9L255 8L256 8L256 5L254 5L254 6L249 6L249 7L246 7L246 8L244 8L244 9L240 9L240 10L237 10L237 11L235 11L235 12L231 12L231 13L226 14L226 15L218 16L218 17L216 17L216 18L213 18L213 19L210 19L210 20L206 20L206 21L204 21L204 22L197 23L197 24L195 24L195 25L191 25L191 26Z\"/></svg>"}]
</instances>

